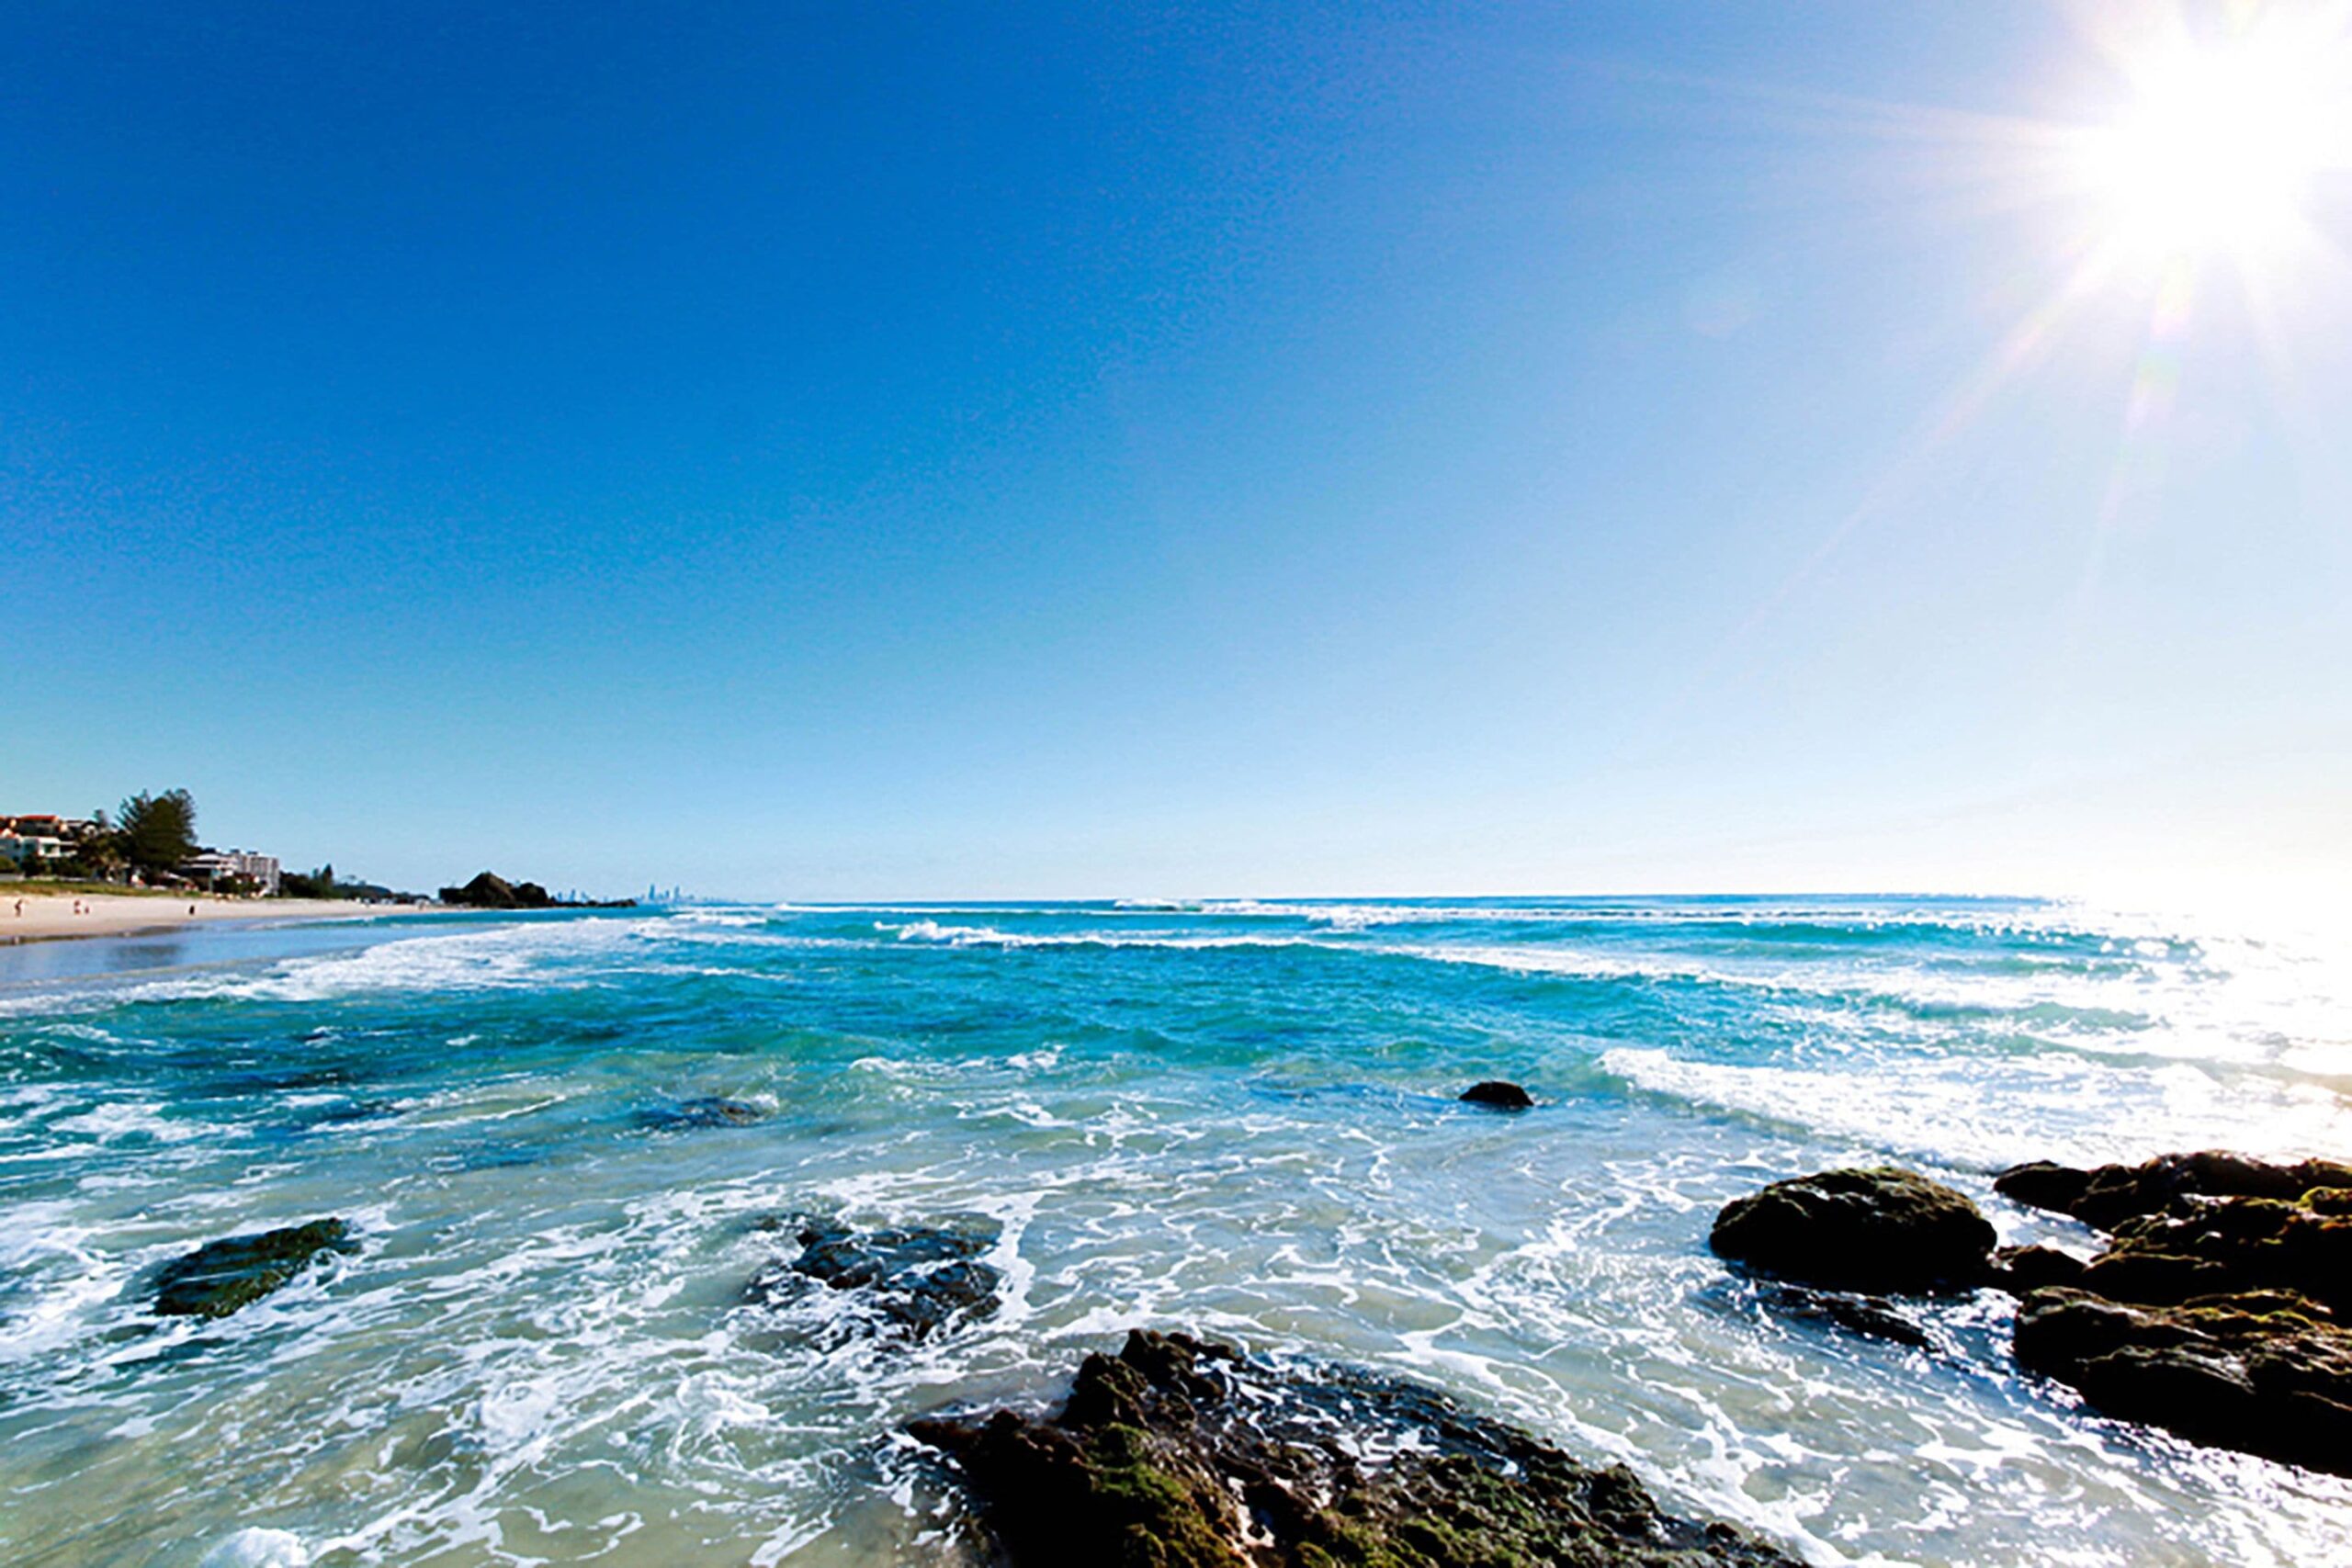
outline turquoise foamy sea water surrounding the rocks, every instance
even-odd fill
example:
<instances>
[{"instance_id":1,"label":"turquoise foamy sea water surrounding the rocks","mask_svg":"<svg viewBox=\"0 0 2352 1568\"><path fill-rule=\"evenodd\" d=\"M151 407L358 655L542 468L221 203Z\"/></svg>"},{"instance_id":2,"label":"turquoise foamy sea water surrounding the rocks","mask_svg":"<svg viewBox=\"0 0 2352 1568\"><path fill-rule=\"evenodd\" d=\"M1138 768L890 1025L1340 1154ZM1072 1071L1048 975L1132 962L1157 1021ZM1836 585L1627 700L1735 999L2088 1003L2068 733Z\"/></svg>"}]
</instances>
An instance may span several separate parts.
<instances>
[{"instance_id":1,"label":"turquoise foamy sea water surrounding the rocks","mask_svg":"<svg viewBox=\"0 0 2352 1568\"><path fill-rule=\"evenodd\" d=\"M696 907L0 950L0 1561L962 1563L896 1427L1134 1324L1404 1371L1820 1563L2352 1561L2352 1486L1705 1251L1900 1159L2352 1150L2343 973L1992 900ZM1524 1081L1536 1112L1454 1103ZM661 1126L699 1095L750 1126ZM995 1232L908 1345L781 1211ZM343 1215L219 1324L167 1258Z\"/></svg>"}]
</instances>

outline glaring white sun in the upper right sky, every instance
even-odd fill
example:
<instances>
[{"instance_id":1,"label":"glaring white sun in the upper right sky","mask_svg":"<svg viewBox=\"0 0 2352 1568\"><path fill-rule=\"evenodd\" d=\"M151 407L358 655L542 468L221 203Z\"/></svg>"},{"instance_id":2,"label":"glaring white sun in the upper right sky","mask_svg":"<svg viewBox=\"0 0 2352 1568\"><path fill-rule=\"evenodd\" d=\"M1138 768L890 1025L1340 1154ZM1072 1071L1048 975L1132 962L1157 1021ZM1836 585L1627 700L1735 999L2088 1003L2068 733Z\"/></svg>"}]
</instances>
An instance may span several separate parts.
<instances>
[{"instance_id":1,"label":"glaring white sun in the upper right sky","mask_svg":"<svg viewBox=\"0 0 2352 1568\"><path fill-rule=\"evenodd\" d=\"M2079 143L2077 174L2110 237L2147 261L2274 254L2343 167L2345 101L2324 61L2284 40L2178 45L2138 61L2133 101Z\"/></svg>"}]
</instances>

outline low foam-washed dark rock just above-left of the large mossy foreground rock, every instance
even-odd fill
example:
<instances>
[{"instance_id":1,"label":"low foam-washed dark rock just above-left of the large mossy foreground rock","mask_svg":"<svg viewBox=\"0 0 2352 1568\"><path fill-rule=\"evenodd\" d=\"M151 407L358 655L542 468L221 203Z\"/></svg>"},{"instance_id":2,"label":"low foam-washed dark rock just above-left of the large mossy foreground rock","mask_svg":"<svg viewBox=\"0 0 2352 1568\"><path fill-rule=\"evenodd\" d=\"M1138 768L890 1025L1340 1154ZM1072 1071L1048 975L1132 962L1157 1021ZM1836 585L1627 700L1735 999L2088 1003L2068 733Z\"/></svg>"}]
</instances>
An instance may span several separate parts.
<instances>
[{"instance_id":1,"label":"low foam-washed dark rock just above-left of the large mossy foreground rock","mask_svg":"<svg viewBox=\"0 0 2352 1568\"><path fill-rule=\"evenodd\" d=\"M779 1229L783 1225L779 1222ZM861 1232L835 1220L790 1225L800 1255L779 1258L746 1286L746 1295L760 1305L790 1305L811 1281L835 1291L863 1291L887 1324L917 1340L997 1309L997 1284L1004 1276L981 1262L995 1246L993 1234L896 1225Z\"/></svg>"}]
</instances>

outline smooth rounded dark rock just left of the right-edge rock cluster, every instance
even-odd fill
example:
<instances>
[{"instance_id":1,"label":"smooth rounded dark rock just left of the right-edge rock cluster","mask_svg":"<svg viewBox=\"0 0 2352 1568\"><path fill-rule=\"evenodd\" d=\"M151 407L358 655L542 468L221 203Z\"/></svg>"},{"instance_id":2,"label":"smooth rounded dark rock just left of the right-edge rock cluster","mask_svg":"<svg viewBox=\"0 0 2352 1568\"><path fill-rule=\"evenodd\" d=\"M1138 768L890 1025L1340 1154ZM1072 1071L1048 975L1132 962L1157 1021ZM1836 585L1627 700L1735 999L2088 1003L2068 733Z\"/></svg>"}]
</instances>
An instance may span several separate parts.
<instances>
[{"instance_id":1,"label":"smooth rounded dark rock just left of the right-edge rock cluster","mask_svg":"<svg viewBox=\"0 0 2352 1568\"><path fill-rule=\"evenodd\" d=\"M1759 1274L1844 1291L1945 1291L1985 1284L1992 1225L1917 1171L1823 1171L1724 1204L1708 1234Z\"/></svg>"}]
</instances>

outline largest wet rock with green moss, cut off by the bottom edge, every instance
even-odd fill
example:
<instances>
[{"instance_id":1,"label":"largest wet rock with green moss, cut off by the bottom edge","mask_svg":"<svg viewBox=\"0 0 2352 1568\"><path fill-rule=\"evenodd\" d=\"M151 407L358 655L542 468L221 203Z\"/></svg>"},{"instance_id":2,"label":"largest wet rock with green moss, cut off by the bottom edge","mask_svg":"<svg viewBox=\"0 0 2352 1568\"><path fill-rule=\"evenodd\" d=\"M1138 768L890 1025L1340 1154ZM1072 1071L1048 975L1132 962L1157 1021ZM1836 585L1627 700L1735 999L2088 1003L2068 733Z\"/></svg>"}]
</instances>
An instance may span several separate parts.
<instances>
[{"instance_id":1,"label":"largest wet rock with green moss, cut off by the bottom edge","mask_svg":"<svg viewBox=\"0 0 2352 1568\"><path fill-rule=\"evenodd\" d=\"M1014 1568L1795 1568L1444 1394L1136 1331L1051 1420L924 1420ZM1364 1460L1381 1453L1381 1460Z\"/></svg>"}]
</instances>

